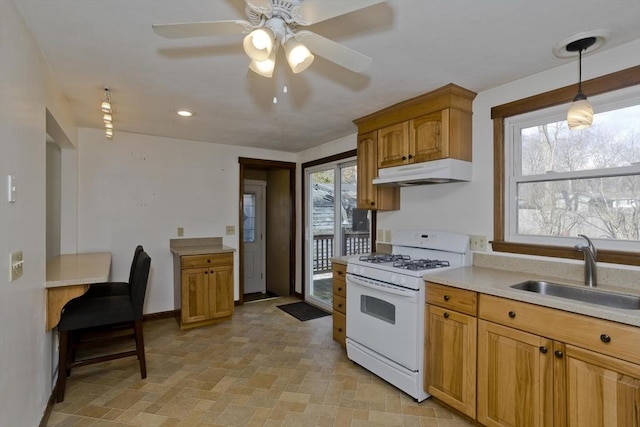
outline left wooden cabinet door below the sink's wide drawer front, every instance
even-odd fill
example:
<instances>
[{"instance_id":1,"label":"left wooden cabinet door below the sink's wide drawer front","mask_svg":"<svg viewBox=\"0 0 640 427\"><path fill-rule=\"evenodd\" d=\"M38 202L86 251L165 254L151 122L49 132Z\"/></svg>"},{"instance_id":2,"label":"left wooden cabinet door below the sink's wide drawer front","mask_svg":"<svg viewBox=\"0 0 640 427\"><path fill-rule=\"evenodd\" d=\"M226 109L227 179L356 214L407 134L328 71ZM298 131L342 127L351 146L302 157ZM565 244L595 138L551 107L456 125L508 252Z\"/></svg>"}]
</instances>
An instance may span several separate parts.
<instances>
[{"instance_id":1,"label":"left wooden cabinet door below the sink's wide drawer front","mask_svg":"<svg viewBox=\"0 0 640 427\"><path fill-rule=\"evenodd\" d=\"M553 341L478 321L478 421L553 425Z\"/></svg>"}]
</instances>

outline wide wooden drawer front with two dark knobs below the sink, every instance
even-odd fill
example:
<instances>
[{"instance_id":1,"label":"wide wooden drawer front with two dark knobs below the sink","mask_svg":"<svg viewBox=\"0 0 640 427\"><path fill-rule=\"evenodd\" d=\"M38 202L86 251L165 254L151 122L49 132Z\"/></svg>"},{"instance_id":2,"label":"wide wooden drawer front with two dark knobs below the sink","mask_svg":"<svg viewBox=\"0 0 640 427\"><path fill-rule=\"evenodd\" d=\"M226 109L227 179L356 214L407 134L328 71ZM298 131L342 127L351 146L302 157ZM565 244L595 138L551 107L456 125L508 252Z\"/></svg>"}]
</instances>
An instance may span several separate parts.
<instances>
[{"instance_id":1,"label":"wide wooden drawer front with two dark knobs below the sink","mask_svg":"<svg viewBox=\"0 0 640 427\"><path fill-rule=\"evenodd\" d=\"M640 363L640 328L635 326L484 294L479 317Z\"/></svg>"}]
</instances>

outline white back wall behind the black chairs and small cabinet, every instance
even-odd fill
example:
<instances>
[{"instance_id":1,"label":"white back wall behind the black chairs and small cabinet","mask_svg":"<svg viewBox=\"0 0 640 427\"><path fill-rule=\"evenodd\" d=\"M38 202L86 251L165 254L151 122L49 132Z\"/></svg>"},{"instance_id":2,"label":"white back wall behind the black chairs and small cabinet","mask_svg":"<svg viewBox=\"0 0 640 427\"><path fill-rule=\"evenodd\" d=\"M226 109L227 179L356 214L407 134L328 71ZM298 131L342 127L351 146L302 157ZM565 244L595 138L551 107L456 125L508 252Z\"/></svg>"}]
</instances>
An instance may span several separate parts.
<instances>
[{"instance_id":1,"label":"white back wall behind the black chairs and small cabinet","mask_svg":"<svg viewBox=\"0 0 640 427\"><path fill-rule=\"evenodd\" d=\"M238 157L295 161L295 155L81 128L78 132L78 251L110 251L113 280L127 280L136 245L151 257L145 313L174 310L169 239L223 237L238 248ZM235 299L239 298L235 255Z\"/></svg>"}]
</instances>

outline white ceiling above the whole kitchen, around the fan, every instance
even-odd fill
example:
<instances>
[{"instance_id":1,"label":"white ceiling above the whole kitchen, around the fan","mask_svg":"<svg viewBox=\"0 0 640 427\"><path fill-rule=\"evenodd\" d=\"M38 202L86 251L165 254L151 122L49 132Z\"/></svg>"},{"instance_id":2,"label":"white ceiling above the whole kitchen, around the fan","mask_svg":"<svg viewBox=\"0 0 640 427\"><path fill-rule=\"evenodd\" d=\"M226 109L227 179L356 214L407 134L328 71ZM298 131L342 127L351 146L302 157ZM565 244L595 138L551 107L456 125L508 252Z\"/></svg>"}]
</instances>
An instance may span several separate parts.
<instances>
[{"instance_id":1,"label":"white ceiling above the whole kitchen, around the fan","mask_svg":"<svg viewBox=\"0 0 640 427\"><path fill-rule=\"evenodd\" d=\"M279 53L267 79L248 71L242 35L169 40L151 29L246 19L243 0L14 2L78 126L102 128L99 104L110 87L114 142L127 131L299 152L355 133L356 118L447 83L481 92L576 61L552 48L577 33L610 30L601 50L640 39L638 0L387 0L307 27L370 56L368 70L354 73L316 55L293 74ZM180 118L178 108L195 116Z\"/></svg>"}]
</instances>

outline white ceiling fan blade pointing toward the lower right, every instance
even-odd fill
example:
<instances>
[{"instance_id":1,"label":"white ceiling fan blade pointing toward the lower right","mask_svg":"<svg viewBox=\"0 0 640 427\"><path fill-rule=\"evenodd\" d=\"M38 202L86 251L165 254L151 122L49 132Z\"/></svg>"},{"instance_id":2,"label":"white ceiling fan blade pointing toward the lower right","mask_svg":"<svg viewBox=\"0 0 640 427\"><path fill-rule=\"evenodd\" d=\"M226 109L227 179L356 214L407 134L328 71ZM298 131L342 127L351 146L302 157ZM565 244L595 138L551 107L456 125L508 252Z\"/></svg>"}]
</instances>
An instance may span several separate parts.
<instances>
[{"instance_id":1,"label":"white ceiling fan blade pointing toward the lower right","mask_svg":"<svg viewBox=\"0 0 640 427\"><path fill-rule=\"evenodd\" d=\"M369 68L373 61L366 55L311 31L299 31L295 37L311 52L356 73Z\"/></svg>"}]
</instances>

